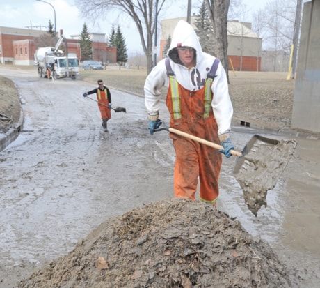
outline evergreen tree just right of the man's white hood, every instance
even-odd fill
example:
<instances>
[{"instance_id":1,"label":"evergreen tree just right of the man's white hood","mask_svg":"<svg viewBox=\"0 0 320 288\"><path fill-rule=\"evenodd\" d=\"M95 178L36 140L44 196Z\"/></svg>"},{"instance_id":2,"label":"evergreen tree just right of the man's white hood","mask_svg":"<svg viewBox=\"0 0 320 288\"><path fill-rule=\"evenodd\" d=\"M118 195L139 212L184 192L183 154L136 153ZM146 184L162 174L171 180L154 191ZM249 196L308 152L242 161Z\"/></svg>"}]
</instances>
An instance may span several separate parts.
<instances>
[{"instance_id":1,"label":"evergreen tree just right of the man's white hood","mask_svg":"<svg viewBox=\"0 0 320 288\"><path fill-rule=\"evenodd\" d=\"M202 1L199 15L195 19L195 32L199 37L199 42L203 52L214 54L214 32L207 11L205 0Z\"/></svg>"}]
</instances>

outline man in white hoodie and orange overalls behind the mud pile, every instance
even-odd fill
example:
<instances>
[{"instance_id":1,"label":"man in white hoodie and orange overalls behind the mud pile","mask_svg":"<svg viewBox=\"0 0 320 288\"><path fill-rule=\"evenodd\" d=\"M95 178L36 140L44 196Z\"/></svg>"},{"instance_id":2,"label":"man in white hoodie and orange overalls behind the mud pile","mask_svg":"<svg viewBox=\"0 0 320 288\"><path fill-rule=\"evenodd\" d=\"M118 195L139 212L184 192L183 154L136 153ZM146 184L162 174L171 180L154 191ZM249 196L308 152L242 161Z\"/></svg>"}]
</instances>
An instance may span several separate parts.
<instances>
[{"instance_id":1,"label":"man in white hoodie and orange overalls behind the mud pile","mask_svg":"<svg viewBox=\"0 0 320 288\"><path fill-rule=\"evenodd\" d=\"M229 135L233 109L227 76L220 62L216 62L214 75L208 77L215 70L215 59L202 52L192 26L180 20L173 31L168 58L152 69L144 86L151 135L159 126L160 89L166 86L170 127L210 142L221 142L223 150L218 151L170 133L176 153L175 197L195 199L199 177L200 199L214 206L219 193L221 153L230 157L230 150L234 149Z\"/></svg>"}]
</instances>

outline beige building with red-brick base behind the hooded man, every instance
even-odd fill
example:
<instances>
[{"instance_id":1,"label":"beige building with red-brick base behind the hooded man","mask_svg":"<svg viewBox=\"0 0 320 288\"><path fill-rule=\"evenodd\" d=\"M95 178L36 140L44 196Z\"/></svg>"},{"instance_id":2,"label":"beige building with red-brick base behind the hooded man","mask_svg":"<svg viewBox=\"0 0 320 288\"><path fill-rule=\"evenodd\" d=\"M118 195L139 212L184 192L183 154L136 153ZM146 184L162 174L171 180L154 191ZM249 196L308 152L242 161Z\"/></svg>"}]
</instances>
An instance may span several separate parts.
<instances>
[{"instance_id":1,"label":"beige building with red-brick base behind the hooded man","mask_svg":"<svg viewBox=\"0 0 320 288\"><path fill-rule=\"evenodd\" d=\"M196 17L191 17L191 25L195 28ZM167 39L173 35L173 30L179 20L185 20L186 17L179 17L161 21L160 38L160 58L163 55L163 48L166 46ZM229 69L244 71L260 71L262 56L262 38L251 30L251 24L239 21L227 22L227 40L229 57Z\"/></svg>"}]
</instances>

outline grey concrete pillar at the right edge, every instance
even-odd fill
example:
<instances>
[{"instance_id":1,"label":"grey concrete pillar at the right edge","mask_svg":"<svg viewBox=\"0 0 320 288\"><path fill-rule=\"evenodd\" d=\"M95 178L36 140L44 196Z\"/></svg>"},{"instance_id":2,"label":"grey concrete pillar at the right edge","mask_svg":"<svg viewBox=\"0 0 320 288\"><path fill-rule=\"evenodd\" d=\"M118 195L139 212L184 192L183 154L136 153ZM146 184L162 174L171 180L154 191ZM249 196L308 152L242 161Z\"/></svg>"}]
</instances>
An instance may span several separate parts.
<instances>
[{"instance_id":1,"label":"grey concrete pillar at the right edge","mask_svg":"<svg viewBox=\"0 0 320 288\"><path fill-rule=\"evenodd\" d=\"M291 128L320 132L320 0L303 6Z\"/></svg>"}]
</instances>

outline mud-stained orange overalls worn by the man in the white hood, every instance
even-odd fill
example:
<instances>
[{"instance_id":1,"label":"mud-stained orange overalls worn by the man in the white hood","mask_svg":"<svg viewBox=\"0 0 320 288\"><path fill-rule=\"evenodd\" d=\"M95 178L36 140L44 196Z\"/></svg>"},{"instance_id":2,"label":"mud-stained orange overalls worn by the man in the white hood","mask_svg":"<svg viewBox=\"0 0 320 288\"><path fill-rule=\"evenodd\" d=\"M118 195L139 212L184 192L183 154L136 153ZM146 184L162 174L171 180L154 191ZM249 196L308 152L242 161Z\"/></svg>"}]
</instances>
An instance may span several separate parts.
<instances>
[{"instance_id":1,"label":"mud-stained orange overalls worn by the man in the white hood","mask_svg":"<svg viewBox=\"0 0 320 288\"><path fill-rule=\"evenodd\" d=\"M176 85L179 99L173 97L172 85ZM205 91L205 86L198 91L189 91L176 80L170 81L166 98L170 112L170 127L210 142L220 143L218 126L211 107L212 98L205 103ZM170 137L173 139L176 154L173 179L175 197L194 200L199 176L200 200L215 206L219 194L221 153L210 146L173 133L170 133Z\"/></svg>"}]
</instances>

